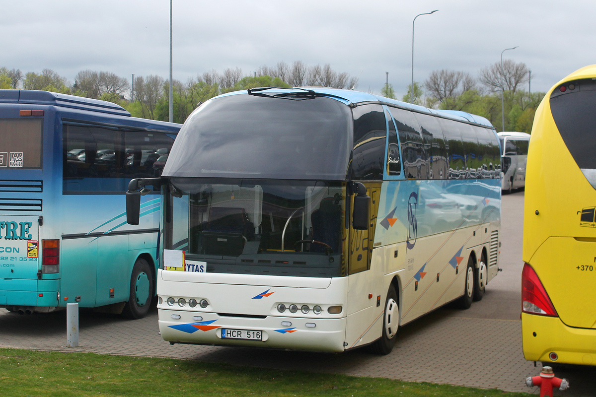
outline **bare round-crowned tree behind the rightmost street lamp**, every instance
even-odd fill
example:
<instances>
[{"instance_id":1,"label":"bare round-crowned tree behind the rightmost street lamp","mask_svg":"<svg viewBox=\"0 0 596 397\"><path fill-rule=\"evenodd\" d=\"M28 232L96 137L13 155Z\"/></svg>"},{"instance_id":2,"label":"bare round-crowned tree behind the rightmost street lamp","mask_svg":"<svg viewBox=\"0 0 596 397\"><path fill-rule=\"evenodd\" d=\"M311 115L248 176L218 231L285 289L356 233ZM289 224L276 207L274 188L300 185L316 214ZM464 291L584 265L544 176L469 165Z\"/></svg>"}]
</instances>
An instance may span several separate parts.
<instances>
[{"instance_id":1,"label":"bare round-crowned tree behind the rightmost street lamp","mask_svg":"<svg viewBox=\"0 0 596 397\"><path fill-rule=\"evenodd\" d=\"M491 92L507 91L513 98L517 87L529 79L529 69L524 62L504 60L495 62L480 70L480 83L488 87Z\"/></svg>"}]
</instances>

